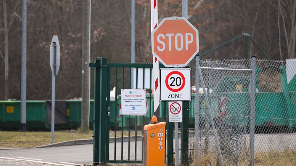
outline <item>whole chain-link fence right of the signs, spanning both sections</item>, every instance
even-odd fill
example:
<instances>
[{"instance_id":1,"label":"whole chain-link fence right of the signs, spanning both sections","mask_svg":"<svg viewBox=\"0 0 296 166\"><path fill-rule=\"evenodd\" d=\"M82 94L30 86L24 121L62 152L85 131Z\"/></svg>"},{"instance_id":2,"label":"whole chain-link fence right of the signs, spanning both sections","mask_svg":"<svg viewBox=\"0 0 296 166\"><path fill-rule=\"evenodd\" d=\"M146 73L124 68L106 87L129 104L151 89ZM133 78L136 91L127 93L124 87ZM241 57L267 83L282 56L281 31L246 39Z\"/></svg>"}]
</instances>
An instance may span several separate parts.
<instances>
[{"instance_id":1,"label":"whole chain-link fence right of the signs, spanning both sections","mask_svg":"<svg viewBox=\"0 0 296 166\"><path fill-rule=\"evenodd\" d=\"M192 87L198 103L190 101L188 119L194 165L295 165L296 61L254 62L254 97L250 59L199 60L195 72L202 76L192 72L199 81Z\"/></svg>"}]
</instances>

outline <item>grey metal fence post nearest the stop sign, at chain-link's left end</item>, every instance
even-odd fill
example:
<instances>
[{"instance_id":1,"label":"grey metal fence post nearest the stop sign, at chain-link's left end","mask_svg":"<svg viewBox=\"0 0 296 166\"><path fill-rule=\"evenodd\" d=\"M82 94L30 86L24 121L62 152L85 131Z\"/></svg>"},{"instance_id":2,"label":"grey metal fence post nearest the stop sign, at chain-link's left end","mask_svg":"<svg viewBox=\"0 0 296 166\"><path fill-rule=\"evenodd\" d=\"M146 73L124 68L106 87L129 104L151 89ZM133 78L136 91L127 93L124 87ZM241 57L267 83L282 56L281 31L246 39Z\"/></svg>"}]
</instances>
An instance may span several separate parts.
<instances>
[{"instance_id":1,"label":"grey metal fence post nearest the stop sign, at chain-link's left end","mask_svg":"<svg viewBox=\"0 0 296 166\"><path fill-rule=\"evenodd\" d=\"M197 67L200 66L200 55L195 56L195 119L194 119L194 160L197 161L198 157L198 130L199 130L199 113L200 113L200 96L199 96L199 86L200 86L200 77Z\"/></svg>"}]
</instances>

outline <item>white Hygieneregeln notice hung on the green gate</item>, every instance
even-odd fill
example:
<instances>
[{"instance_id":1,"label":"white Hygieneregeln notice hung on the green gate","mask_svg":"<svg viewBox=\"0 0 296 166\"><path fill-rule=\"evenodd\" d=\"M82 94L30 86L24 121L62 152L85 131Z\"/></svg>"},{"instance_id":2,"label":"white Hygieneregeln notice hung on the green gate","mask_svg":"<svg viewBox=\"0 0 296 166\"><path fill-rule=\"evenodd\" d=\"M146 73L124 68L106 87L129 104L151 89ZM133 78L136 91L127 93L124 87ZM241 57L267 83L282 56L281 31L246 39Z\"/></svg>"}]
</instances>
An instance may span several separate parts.
<instances>
[{"instance_id":1,"label":"white Hygieneregeln notice hung on the green gate","mask_svg":"<svg viewBox=\"0 0 296 166\"><path fill-rule=\"evenodd\" d=\"M121 115L146 115L146 90L121 90Z\"/></svg>"}]
</instances>

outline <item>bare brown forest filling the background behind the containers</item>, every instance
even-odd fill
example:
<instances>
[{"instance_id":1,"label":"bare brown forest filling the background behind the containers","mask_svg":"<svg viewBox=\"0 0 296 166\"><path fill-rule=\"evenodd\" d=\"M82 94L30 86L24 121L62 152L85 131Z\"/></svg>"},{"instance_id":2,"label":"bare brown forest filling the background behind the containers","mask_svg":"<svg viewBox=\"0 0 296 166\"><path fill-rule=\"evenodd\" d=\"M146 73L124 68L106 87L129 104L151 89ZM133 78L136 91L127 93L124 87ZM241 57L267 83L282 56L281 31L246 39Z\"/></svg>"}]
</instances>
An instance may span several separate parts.
<instances>
[{"instance_id":1,"label":"bare brown forest filling the background behind the containers","mask_svg":"<svg viewBox=\"0 0 296 166\"><path fill-rule=\"evenodd\" d=\"M27 100L51 98L49 45L53 35L58 35L61 47L56 99L81 97L82 3L76 0L27 1ZM295 0L188 0L188 20L199 30L200 54L248 32L269 58L295 58L295 11ZM181 0L158 0L158 22L164 17L181 15ZM136 0L135 23L136 62L152 63L150 0ZM0 100L20 100L21 36L22 0L1 0ZM94 57L107 57L108 62L130 62L130 36L131 0L91 1L91 62ZM5 52L6 44L8 52ZM247 51L249 56L266 59L251 42ZM9 95L5 97L7 53ZM240 38L207 56L245 58L245 39ZM91 98L93 73L91 69Z\"/></svg>"}]
</instances>

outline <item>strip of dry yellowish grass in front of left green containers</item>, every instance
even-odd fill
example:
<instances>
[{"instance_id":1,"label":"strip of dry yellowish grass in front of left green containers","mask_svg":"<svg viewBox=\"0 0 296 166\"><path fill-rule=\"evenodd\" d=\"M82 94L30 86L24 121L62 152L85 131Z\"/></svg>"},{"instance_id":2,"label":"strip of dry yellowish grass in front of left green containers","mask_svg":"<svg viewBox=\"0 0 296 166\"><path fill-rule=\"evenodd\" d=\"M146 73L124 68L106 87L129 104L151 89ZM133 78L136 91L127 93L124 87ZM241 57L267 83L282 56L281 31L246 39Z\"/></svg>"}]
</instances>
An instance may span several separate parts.
<instances>
[{"instance_id":1,"label":"strip of dry yellowish grass in front of left green containers","mask_svg":"<svg viewBox=\"0 0 296 166\"><path fill-rule=\"evenodd\" d=\"M135 131L130 135L134 136ZM54 142L64 142L70 140L92 139L93 131L88 133L77 132L76 130L55 131ZM114 137L115 132L110 131L110 138ZM142 135L142 131L137 131L137 135ZM123 136L128 136L128 131L123 131ZM121 130L116 131L116 137L121 137ZM51 144L51 132L20 132L20 131L0 131L1 148L32 148L41 145Z\"/></svg>"}]
</instances>

